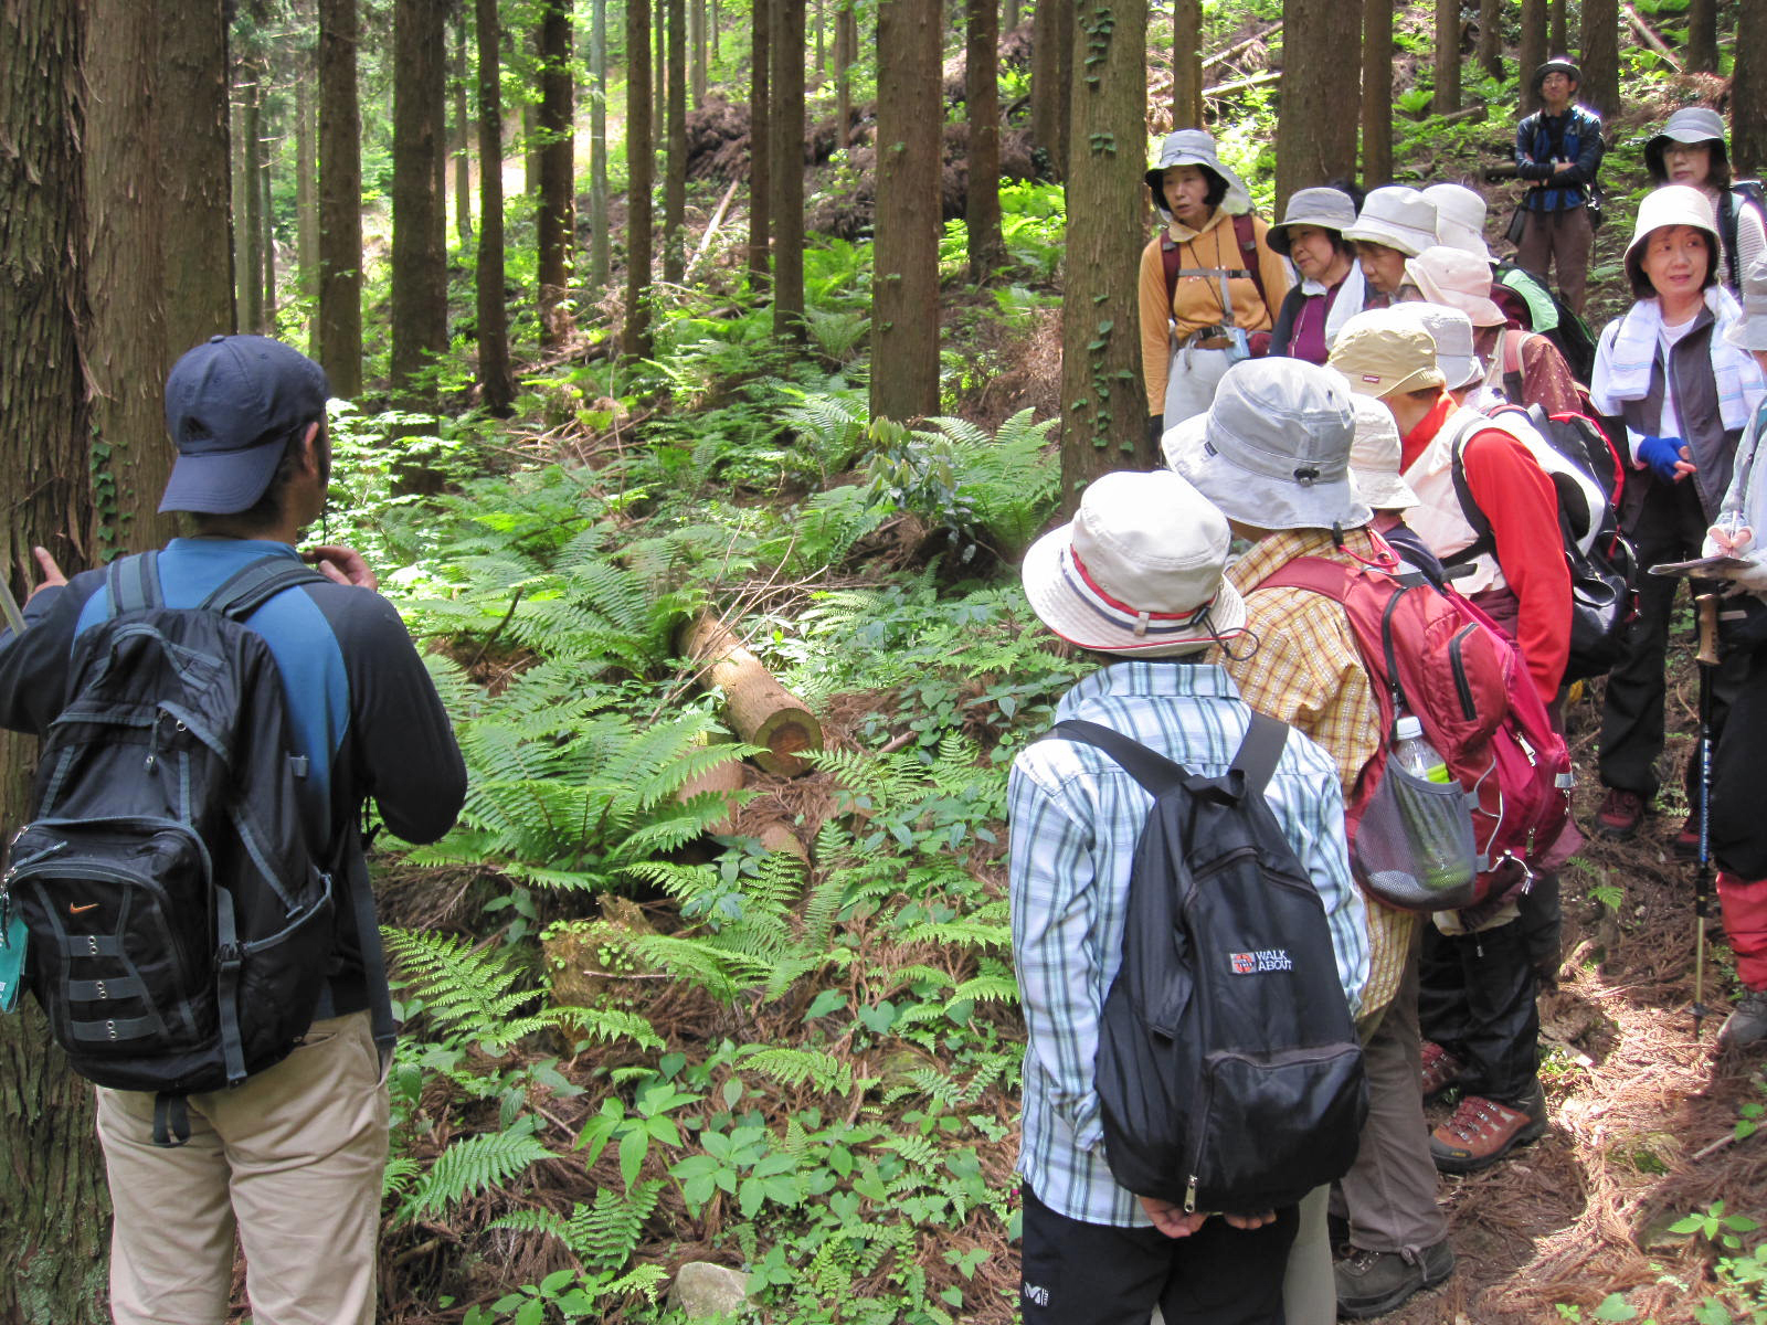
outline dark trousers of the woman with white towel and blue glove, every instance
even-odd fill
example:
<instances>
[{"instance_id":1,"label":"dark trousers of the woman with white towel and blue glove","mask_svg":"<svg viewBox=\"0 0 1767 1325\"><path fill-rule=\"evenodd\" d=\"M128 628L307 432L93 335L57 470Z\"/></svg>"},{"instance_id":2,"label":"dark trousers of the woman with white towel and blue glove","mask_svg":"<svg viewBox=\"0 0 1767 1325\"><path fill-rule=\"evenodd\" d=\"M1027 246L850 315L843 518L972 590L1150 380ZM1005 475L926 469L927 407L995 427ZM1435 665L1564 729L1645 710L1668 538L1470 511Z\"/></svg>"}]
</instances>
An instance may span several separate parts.
<instances>
[{"instance_id":1,"label":"dark trousers of the woman with white towel and blue glove","mask_svg":"<svg viewBox=\"0 0 1767 1325\"><path fill-rule=\"evenodd\" d=\"M1634 791L1647 802L1657 791L1656 761L1663 753L1663 700L1668 691L1668 625L1679 579L1645 574L1657 562L1680 562L1700 555L1705 541L1705 511L1693 479L1656 482L1642 475L1629 482L1647 482L1643 505L1627 528L1638 549L1638 618L1626 627L1626 655L1608 673L1601 705L1601 754L1597 767L1603 786ZM1687 581L1695 594L1712 588L1707 581ZM1712 678L1712 737L1725 730L1732 698L1742 687L1748 655L1725 659ZM1687 804L1698 768L1687 767Z\"/></svg>"}]
</instances>

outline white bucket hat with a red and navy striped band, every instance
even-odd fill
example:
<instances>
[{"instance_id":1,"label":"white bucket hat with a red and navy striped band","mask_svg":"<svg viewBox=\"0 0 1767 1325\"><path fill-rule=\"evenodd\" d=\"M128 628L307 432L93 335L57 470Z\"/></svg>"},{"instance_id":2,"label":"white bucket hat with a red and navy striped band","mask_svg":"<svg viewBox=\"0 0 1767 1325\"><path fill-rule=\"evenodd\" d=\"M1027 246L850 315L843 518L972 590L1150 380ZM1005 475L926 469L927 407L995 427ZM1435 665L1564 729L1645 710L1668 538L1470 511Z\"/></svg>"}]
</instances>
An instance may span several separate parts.
<instances>
[{"instance_id":1,"label":"white bucket hat with a red and navy striped band","mask_svg":"<svg viewBox=\"0 0 1767 1325\"><path fill-rule=\"evenodd\" d=\"M1223 579L1233 535L1177 473L1106 473L1074 518L1025 553L1037 618L1081 648L1133 657L1189 654L1246 627Z\"/></svg>"}]
</instances>

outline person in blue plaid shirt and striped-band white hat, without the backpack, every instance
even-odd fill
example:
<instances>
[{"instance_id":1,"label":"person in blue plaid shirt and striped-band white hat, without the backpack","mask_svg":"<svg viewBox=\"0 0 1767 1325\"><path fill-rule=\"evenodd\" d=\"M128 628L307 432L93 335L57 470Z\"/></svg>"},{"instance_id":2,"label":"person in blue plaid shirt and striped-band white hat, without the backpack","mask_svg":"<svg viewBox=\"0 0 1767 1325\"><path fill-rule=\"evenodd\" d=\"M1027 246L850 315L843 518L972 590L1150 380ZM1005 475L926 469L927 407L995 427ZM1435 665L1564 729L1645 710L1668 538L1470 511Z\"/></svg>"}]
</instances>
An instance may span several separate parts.
<instances>
[{"instance_id":1,"label":"person in blue plaid shirt and striped-band white hat, without the backpack","mask_svg":"<svg viewBox=\"0 0 1767 1325\"><path fill-rule=\"evenodd\" d=\"M1092 740L1127 737L1200 777L1223 777L1248 731L1258 733L1255 751L1269 751L1269 728L1253 726L1232 677L1203 652L1216 638L1240 655L1255 647L1239 634L1244 602L1223 578L1228 542L1221 512L1179 475L1106 473L1081 495L1073 523L1025 558L1025 595L1043 622L1108 662L1062 696L1055 733L1030 742L1007 781L1012 966L1027 1026L1025 1325L1147 1320L1156 1306L1180 1320L1200 1302L1233 1320L1283 1314L1295 1207L1212 1215L1119 1185L1099 1143L1094 1079L1092 1046L1133 924L1131 874L1152 799ZM1110 731L1060 726L1074 719ZM1270 735L1281 744L1262 799L1318 892L1331 936L1332 970L1318 972L1323 988L1313 998L1331 996L1320 1009L1341 1012L1332 995L1341 989L1354 1012L1368 975L1368 920L1350 878L1338 772L1299 731Z\"/></svg>"}]
</instances>

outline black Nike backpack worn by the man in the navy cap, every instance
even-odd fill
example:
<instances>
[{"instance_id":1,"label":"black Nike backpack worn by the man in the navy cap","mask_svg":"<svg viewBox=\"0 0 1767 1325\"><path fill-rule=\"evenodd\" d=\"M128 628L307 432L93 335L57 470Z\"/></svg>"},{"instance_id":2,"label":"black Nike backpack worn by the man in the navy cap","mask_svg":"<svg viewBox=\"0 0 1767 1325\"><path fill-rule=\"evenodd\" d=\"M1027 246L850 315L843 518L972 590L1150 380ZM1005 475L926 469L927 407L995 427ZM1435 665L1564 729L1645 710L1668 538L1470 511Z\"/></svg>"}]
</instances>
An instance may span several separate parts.
<instances>
[{"instance_id":1,"label":"black Nike backpack worn by the man in the navy cap","mask_svg":"<svg viewBox=\"0 0 1767 1325\"><path fill-rule=\"evenodd\" d=\"M113 562L113 615L74 643L0 880L0 922L25 919L57 1042L81 1076L155 1092L155 1145L189 1138L186 1095L288 1056L325 988L334 894L297 804L306 758L290 753L276 659L242 625L313 581L267 556L200 608L166 608L155 553Z\"/></svg>"}]
</instances>

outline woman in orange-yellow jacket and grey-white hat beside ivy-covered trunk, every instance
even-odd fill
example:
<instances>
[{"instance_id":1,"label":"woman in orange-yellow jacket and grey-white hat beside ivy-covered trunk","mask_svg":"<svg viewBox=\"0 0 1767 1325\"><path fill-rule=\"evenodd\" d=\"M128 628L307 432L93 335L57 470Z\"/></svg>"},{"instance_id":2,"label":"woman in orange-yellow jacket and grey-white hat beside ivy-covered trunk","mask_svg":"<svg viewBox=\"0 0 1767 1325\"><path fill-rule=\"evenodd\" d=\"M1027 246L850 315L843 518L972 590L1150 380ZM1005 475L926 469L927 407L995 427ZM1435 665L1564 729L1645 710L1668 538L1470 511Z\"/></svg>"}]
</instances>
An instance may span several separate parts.
<instances>
[{"instance_id":1,"label":"woman in orange-yellow jacket and grey-white hat beside ivy-covered trunk","mask_svg":"<svg viewBox=\"0 0 1767 1325\"><path fill-rule=\"evenodd\" d=\"M1288 267L1244 180L1202 129L1166 134L1147 171L1163 221L1141 251L1141 376L1149 438L1202 413L1226 369L1269 341ZM1253 337L1258 343L1253 344Z\"/></svg>"}]
</instances>

